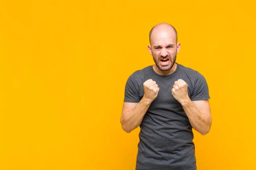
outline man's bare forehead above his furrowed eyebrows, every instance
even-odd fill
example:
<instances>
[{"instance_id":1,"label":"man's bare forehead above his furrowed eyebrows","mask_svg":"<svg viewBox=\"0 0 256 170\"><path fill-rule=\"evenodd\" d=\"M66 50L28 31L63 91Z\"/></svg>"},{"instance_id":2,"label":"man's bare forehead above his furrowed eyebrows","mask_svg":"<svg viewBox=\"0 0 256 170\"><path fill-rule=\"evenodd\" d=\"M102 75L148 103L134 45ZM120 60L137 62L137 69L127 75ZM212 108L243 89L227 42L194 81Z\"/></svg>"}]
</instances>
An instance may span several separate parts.
<instances>
[{"instance_id":1,"label":"man's bare forehead above his furrowed eyebrows","mask_svg":"<svg viewBox=\"0 0 256 170\"><path fill-rule=\"evenodd\" d=\"M177 37L173 30L154 30L151 34L151 45L176 44Z\"/></svg>"}]
</instances>

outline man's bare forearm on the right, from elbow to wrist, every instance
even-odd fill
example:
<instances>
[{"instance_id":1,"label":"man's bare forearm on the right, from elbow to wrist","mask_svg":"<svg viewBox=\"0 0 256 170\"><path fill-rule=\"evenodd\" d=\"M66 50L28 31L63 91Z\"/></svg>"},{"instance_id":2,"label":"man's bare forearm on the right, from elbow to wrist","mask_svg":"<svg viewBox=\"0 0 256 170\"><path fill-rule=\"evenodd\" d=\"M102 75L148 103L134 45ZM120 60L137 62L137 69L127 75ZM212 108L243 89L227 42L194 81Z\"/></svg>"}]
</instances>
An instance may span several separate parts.
<instances>
[{"instance_id":1,"label":"man's bare forearm on the right, from elbow to wrist","mask_svg":"<svg viewBox=\"0 0 256 170\"><path fill-rule=\"evenodd\" d=\"M202 135L207 134L210 131L212 119L207 114L199 111L190 99L184 100L181 105L192 127Z\"/></svg>"}]
</instances>

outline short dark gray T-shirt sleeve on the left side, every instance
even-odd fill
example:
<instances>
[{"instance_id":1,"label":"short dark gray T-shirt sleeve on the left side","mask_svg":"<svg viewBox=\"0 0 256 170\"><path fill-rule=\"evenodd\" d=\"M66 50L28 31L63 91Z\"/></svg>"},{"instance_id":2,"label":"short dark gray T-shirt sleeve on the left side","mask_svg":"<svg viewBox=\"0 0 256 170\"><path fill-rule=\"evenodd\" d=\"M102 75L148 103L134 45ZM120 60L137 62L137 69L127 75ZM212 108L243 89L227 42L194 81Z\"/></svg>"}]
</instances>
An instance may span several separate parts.
<instances>
[{"instance_id":1,"label":"short dark gray T-shirt sleeve on the left side","mask_svg":"<svg viewBox=\"0 0 256 170\"><path fill-rule=\"evenodd\" d=\"M139 85L136 82L135 75L132 74L125 85L125 99L124 102L138 103L140 102Z\"/></svg>"}]
</instances>

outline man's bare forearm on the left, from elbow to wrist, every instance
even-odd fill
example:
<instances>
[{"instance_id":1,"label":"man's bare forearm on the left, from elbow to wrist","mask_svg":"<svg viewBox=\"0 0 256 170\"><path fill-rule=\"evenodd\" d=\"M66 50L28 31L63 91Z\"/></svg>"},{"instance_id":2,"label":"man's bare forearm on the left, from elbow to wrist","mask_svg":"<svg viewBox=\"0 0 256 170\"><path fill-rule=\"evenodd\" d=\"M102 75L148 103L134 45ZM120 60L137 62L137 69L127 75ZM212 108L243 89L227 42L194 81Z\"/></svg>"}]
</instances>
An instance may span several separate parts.
<instances>
[{"instance_id":1,"label":"man's bare forearm on the left, from elbow to wrist","mask_svg":"<svg viewBox=\"0 0 256 170\"><path fill-rule=\"evenodd\" d=\"M142 122L150 104L151 102L143 97L134 109L123 113L120 120L122 129L127 133L130 133L132 130L136 129Z\"/></svg>"}]
</instances>

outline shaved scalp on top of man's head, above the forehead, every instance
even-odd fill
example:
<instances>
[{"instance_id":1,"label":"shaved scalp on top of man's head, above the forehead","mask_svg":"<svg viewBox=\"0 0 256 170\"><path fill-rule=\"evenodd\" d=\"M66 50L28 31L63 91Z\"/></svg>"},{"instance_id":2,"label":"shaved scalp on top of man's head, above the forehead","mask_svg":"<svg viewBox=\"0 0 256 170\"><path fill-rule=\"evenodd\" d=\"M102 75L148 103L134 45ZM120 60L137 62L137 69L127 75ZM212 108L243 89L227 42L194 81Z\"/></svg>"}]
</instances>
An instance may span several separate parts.
<instances>
[{"instance_id":1,"label":"shaved scalp on top of man's head, above the forehead","mask_svg":"<svg viewBox=\"0 0 256 170\"><path fill-rule=\"evenodd\" d=\"M154 26L153 28L151 28L150 32L149 32L149 42L151 44L151 41L152 41L152 37L158 33L160 33L161 31L167 31L167 32L171 32L174 34L175 38L176 38L176 43L177 43L177 31L176 29L168 24L168 23L160 23L160 24L157 24L156 26Z\"/></svg>"}]
</instances>

